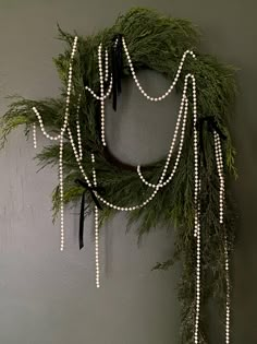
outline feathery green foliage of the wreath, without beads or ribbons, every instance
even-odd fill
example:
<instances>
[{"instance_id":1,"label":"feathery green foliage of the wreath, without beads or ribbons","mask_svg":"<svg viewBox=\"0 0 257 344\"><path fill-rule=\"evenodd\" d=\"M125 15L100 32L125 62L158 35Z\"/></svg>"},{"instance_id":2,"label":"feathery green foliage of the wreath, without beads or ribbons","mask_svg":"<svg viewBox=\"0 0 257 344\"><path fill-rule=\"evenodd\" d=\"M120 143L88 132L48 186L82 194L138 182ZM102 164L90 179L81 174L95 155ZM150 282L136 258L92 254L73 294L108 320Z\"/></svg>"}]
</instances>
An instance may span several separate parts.
<instances>
[{"instance_id":1,"label":"feathery green foliage of the wreath, without beads or ribbons","mask_svg":"<svg viewBox=\"0 0 257 344\"><path fill-rule=\"evenodd\" d=\"M69 123L75 135L75 110L77 96L82 94L82 108L79 121L82 123L82 137L84 157L83 167L88 176L91 176L90 152L96 155L96 169L98 182L106 189L106 198L121 206L128 206L143 202L151 190L144 186L135 169L122 168L113 165L106 156L100 144L99 134L99 104L84 90L86 81L93 90L99 90L97 48L100 43L110 47L113 35L121 33L125 36L135 70L152 69L173 80L180 59L186 49L193 49L197 54L197 60L187 58L182 71L182 78L178 82L176 92L181 93L183 80L186 73L193 72L197 81L198 114L200 117L215 116L216 120L227 135L223 144L225 156L227 183L230 177L235 176L235 151L231 143L229 131L230 116L233 112L233 103L236 93L234 69L220 63L215 57L198 51L199 32L191 22L161 16L155 11L146 9L133 9L120 16L115 24L97 35L78 37L78 54L74 60L74 91L71 97L71 114ZM44 117L45 126L52 132L60 131L64 116L65 87L68 83L68 69L70 62L73 35L60 29L60 37L68 44L64 54L54 59L63 88L61 96L44 100L28 100L24 98L11 99L9 110L1 119L2 145L7 135L17 126L25 124L26 133L37 119L33 112L36 106ZM124 59L123 76L130 76L128 66ZM192 98L188 95L189 105ZM192 112L189 112L188 126L185 133L185 143L181 162L173 181L159 192L157 197L144 209L127 214L128 225L138 225L139 236L149 233L155 227L167 227L174 230L174 254L164 263L158 263L157 269L169 269L175 261L181 261L183 266L179 285L179 297L182 306L182 343L193 343L193 330L195 319L195 261L196 242L193 235L194 228L194 155L192 141ZM207 165L201 165L201 227L203 227L203 304L209 297L216 297L220 305L224 305L225 297L225 271L223 239L228 235L229 250L234 242L234 212L229 192L227 193L225 225L219 224L219 180L216 171L212 134L204 132L204 149L207 156ZM59 146L48 145L37 155L42 164L58 164ZM150 182L157 182L164 158L150 166L146 166L144 175ZM81 178L77 163L74 158L70 143L64 144L64 200L65 203L79 199L82 190L74 183ZM173 162L172 162L173 163ZM172 166L171 163L171 166ZM53 192L53 213L58 213L58 188ZM88 204L91 199L88 194ZM114 215L115 211L103 207L100 212L101 222ZM173 252L173 248L171 248ZM224 308L222 308L223 315ZM224 318L223 318L224 319ZM208 319L205 312L200 318L200 343L208 342Z\"/></svg>"}]
</instances>

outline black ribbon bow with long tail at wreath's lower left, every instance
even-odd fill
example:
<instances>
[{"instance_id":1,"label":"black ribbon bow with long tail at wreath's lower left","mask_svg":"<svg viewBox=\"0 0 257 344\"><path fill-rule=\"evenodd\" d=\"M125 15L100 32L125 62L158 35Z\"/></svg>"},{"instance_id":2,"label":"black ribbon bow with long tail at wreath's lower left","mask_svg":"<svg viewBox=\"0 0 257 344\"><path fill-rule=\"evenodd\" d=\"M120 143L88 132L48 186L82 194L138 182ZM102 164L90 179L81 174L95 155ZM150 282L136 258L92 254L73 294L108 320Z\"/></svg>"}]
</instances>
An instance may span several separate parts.
<instances>
[{"instance_id":1,"label":"black ribbon bow with long tail at wreath's lower left","mask_svg":"<svg viewBox=\"0 0 257 344\"><path fill-rule=\"evenodd\" d=\"M96 206L99 209L99 210L102 210L96 194L95 194L95 191L97 192L102 192L103 189L100 188L100 187L88 187L88 185L82 180L82 179L76 179L75 182L77 185L79 185L81 187L83 187L85 189L85 191L83 192L82 194L82 203L81 203L81 215L79 215L79 235L78 235L78 244L79 244L79 250L84 247L84 212L85 212L85 193L86 191L89 191L90 192L90 195L91 195L91 199L93 201L95 202Z\"/></svg>"}]
</instances>

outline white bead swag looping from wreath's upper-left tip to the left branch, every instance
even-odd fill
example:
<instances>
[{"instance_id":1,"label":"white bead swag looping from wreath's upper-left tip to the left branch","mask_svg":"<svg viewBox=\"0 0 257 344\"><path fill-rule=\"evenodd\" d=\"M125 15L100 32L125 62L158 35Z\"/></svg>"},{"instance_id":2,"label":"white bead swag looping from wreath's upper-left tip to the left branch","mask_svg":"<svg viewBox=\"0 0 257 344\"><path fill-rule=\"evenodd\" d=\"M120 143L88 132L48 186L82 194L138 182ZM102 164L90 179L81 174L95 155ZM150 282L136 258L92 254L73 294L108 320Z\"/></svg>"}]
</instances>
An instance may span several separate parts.
<instances>
[{"instance_id":1,"label":"white bead swag looping from wreath's upper-left tip to the left branch","mask_svg":"<svg viewBox=\"0 0 257 344\"><path fill-rule=\"evenodd\" d=\"M45 129L45 126L42 123L42 118L41 118L39 111L37 110L37 108L35 106L33 107L34 112L38 118L41 132L49 140L54 140L54 141L60 140L61 134L65 132L65 129L68 126L68 118L70 115L70 98L71 98L71 88L72 88L73 60L74 60L74 55L76 52L76 46L77 46L77 36L74 37L74 41L73 41L73 46L72 46L71 61L70 61L70 66L69 66L69 75L68 75L66 105L65 105L65 114L64 114L63 126L61 128L61 133L56 135L56 137L48 134L46 129Z\"/></svg>"}]
</instances>

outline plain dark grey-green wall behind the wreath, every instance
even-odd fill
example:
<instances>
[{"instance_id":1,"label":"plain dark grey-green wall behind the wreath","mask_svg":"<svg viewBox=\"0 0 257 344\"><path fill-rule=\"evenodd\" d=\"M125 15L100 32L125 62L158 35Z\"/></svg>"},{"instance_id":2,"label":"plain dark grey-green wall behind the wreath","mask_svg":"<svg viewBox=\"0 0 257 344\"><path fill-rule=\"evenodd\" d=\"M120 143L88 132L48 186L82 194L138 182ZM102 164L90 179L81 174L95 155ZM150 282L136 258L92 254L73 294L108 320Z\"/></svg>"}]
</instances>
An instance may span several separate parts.
<instances>
[{"instance_id":1,"label":"plain dark grey-green wall behind the wreath","mask_svg":"<svg viewBox=\"0 0 257 344\"><path fill-rule=\"evenodd\" d=\"M232 122L242 176L236 186L242 230L235 261L234 337L235 343L256 343L254 0L0 0L1 111L7 108L5 95L58 95L60 84L51 58L63 46L54 39L57 22L66 31L91 34L111 25L132 5L156 7L167 14L193 20L204 32L206 51L241 68L240 116ZM142 78L152 93L167 84L154 73ZM158 83L152 83L156 79ZM149 106L132 83L125 94L119 120L108 116L111 149L126 162L150 162L168 147L178 99ZM39 146L46 143L41 135L38 141ZM66 210L68 248L60 253L59 226L52 225L50 213L57 171L36 174L34 154L33 142L24 140L22 130L13 133L0 152L0 343L178 343L180 319L174 287L179 271L150 272L156 261L169 254L172 235L155 230L138 248L133 230L125 234L124 216L117 216L101 234L102 287L96 290L91 220L87 220L86 246L79 252L76 210ZM217 324L213 322L211 328L217 343Z\"/></svg>"}]
</instances>

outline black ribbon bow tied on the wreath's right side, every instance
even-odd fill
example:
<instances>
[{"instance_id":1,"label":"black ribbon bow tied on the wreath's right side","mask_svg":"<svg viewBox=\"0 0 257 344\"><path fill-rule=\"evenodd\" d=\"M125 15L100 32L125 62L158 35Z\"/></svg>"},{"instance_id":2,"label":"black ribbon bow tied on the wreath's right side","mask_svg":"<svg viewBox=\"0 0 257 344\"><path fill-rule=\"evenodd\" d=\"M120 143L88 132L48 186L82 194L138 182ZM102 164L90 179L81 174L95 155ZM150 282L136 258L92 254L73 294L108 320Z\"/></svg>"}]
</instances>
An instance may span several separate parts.
<instances>
[{"instance_id":1,"label":"black ribbon bow tied on the wreath's right side","mask_svg":"<svg viewBox=\"0 0 257 344\"><path fill-rule=\"evenodd\" d=\"M199 149L203 153L203 161L205 167L207 166L206 153L205 153L205 144L204 144L204 124L207 123L207 129L209 132L216 131L222 140L225 140L225 134L220 130L219 124L216 120L215 116L206 116L201 117L196 122L196 128L199 131ZM200 157L200 154L199 154Z\"/></svg>"}]
</instances>

